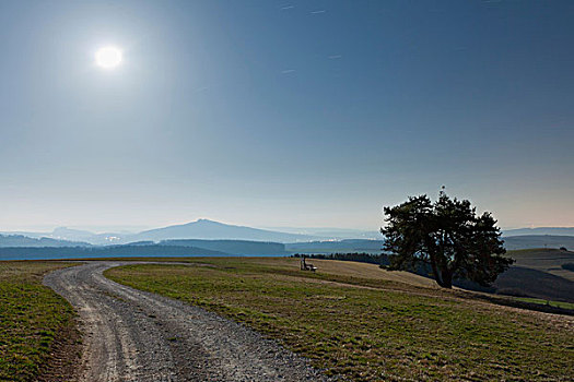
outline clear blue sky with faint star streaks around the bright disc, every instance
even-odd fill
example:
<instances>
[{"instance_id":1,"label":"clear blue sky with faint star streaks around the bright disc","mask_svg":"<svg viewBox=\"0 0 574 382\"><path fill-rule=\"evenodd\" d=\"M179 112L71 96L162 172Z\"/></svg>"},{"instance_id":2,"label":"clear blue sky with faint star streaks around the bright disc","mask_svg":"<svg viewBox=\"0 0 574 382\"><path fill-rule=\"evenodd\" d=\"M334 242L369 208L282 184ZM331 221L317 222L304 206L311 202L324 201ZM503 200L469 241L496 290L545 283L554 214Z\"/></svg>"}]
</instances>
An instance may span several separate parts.
<instances>
[{"instance_id":1,"label":"clear blue sky with faint star streaks around the bright disc","mask_svg":"<svg viewBox=\"0 0 574 382\"><path fill-rule=\"evenodd\" d=\"M1 1L0 230L574 226L572 1ZM122 62L106 70L98 48Z\"/></svg>"}]
</instances>

